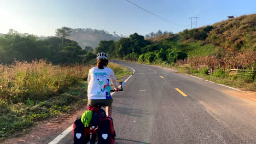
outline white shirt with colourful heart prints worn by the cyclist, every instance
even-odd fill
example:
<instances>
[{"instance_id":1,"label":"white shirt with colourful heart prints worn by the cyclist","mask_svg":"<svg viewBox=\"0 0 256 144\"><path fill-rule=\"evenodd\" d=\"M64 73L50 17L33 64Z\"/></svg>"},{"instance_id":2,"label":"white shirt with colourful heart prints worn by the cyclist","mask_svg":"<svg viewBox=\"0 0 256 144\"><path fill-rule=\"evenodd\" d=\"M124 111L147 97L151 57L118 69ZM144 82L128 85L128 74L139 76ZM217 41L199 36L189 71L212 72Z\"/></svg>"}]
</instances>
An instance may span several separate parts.
<instances>
[{"instance_id":1,"label":"white shirt with colourful heart prints worn by the cyclist","mask_svg":"<svg viewBox=\"0 0 256 144\"><path fill-rule=\"evenodd\" d=\"M115 88L118 87L117 78L112 69L91 68L88 74L88 99L109 99L111 82Z\"/></svg>"}]
</instances>

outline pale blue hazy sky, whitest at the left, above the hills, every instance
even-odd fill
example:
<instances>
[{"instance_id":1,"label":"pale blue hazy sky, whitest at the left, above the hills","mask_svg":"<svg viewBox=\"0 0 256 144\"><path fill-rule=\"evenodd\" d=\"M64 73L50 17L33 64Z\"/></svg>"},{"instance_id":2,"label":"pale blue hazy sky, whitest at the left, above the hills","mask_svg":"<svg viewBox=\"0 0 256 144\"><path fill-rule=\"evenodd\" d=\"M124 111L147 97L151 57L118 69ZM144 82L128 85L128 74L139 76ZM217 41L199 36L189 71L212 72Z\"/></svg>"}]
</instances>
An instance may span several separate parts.
<instances>
[{"instance_id":1,"label":"pale blue hazy sky, whitest at the left, above the hills","mask_svg":"<svg viewBox=\"0 0 256 144\"><path fill-rule=\"evenodd\" d=\"M62 26L104 29L130 35L162 31L177 33L190 28L189 17L199 16L197 27L256 13L255 0L0 0L0 33L12 28L21 33L54 35Z\"/></svg>"}]
</instances>

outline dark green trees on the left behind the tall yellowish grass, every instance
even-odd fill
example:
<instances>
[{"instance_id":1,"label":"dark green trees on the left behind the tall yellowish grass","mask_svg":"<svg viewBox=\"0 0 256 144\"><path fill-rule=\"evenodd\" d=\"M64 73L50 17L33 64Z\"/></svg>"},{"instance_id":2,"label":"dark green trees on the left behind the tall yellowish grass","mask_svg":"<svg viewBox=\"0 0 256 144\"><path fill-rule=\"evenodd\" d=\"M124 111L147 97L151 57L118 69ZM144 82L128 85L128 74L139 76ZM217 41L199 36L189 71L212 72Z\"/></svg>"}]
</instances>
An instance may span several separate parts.
<instances>
[{"instance_id":1,"label":"dark green trees on the left behind the tall yellowish grass","mask_svg":"<svg viewBox=\"0 0 256 144\"><path fill-rule=\"evenodd\" d=\"M76 41L69 39L65 39L64 43L57 37L37 40L35 35L19 34L16 31L0 37L0 62L3 64L10 64L14 59L27 62L48 59L53 64L79 63L83 61L80 55L86 53Z\"/></svg>"}]
</instances>

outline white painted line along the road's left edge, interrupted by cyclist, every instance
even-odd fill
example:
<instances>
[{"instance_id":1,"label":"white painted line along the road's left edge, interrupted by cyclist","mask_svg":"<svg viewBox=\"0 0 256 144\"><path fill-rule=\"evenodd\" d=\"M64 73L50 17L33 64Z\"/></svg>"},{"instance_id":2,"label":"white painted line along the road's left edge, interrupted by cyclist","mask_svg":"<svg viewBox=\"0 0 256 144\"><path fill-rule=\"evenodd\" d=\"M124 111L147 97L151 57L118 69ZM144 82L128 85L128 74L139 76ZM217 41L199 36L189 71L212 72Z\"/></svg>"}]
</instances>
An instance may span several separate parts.
<instances>
[{"instance_id":1,"label":"white painted line along the road's left edge, interrupted by cyclist","mask_svg":"<svg viewBox=\"0 0 256 144\"><path fill-rule=\"evenodd\" d=\"M122 64L119 64L119 65L122 65ZM127 67L127 66L125 66L125 65L122 65L122 66ZM131 67L127 67L127 68L130 68L130 69L133 70L132 75L135 73L135 70L134 70L133 68L131 68ZM130 75L124 82L126 82L127 80L129 80L132 75ZM115 93L115 92L113 92L112 94L114 94L114 93ZM48 144L57 144L57 143L60 142L68 133L70 133L70 131L72 131L72 130L73 130L73 124L70 125L70 127L68 127L66 130L64 130L60 135L58 135L57 137L55 137L55 139L52 140L51 142L49 142Z\"/></svg>"}]
</instances>

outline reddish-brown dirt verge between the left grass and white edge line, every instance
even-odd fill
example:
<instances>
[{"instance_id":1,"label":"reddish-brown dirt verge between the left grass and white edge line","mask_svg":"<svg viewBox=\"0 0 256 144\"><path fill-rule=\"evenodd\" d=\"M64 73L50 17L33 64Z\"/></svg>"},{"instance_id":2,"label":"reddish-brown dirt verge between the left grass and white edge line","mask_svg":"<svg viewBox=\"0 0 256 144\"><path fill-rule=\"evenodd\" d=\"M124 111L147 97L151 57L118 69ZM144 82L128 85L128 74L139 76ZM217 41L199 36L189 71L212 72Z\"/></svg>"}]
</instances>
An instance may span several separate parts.
<instances>
[{"instance_id":1,"label":"reddish-brown dirt verge between the left grass and white edge line","mask_svg":"<svg viewBox=\"0 0 256 144\"><path fill-rule=\"evenodd\" d=\"M77 106L70 113L63 113L59 117L37 122L34 127L27 129L23 133L16 134L14 137L9 137L1 143L49 143L67 129L78 116L82 116L86 110L86 104Z\"/></svg>"}]
</instances>

